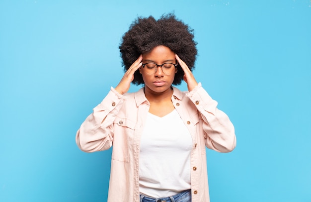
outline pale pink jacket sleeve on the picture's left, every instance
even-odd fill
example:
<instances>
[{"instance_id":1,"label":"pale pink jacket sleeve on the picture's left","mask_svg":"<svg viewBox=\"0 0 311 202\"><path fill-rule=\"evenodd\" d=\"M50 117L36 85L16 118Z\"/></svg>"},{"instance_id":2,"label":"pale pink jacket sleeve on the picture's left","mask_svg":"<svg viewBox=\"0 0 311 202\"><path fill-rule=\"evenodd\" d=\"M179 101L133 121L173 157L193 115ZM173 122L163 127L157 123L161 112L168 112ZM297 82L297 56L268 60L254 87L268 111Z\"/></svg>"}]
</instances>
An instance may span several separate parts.
<instances>
[{"instance_id":1,"label":"pale pink jacket sleeve on the picture's left","mask_svg":"<svg viewBox=\"0 0 311 202\"><path fill-rule=\"evenodd\" d=\"M126 99L111 87L104 100L93 108L77 131L76 143L82 151L102 151L112 146L113 121Z\"/></svg>"}]
</instances>

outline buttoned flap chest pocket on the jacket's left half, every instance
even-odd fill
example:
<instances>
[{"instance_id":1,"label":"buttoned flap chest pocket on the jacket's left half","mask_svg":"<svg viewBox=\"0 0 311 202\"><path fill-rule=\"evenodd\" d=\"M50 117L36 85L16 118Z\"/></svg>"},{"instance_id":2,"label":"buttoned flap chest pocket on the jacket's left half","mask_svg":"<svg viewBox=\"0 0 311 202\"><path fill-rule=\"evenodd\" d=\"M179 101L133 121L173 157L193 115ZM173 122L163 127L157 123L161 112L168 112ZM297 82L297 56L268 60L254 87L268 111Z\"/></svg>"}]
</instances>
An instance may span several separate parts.
<instances>
[{"instance_id":1,"label":"buttoned flap chest pocket on the jacket's left half","mask_svg":"<svg viewBox=\"0 0 311 202\"><path fill-rule=\"evenodd\" d=\"M135 131L135 122L127 118L116 117L113 121L114 134L112 142L113 160L129 162L129 136Z\"/></svg>"}]
</instances>

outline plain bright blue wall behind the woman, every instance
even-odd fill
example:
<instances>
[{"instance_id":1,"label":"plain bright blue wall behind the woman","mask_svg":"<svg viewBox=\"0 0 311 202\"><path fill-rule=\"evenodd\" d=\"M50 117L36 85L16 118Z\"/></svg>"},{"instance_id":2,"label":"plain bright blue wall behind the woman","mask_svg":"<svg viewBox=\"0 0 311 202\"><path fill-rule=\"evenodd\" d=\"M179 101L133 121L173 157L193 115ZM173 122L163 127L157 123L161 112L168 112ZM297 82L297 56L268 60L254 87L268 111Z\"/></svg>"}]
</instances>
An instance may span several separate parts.
<instances>
[{"instance_id":1,"label":"plain bright blue wall behind the woman","mask_svg":"<svg viewBox=\"0 0 311 202\"><path fill-rule=\"evenodd\" d=\"M111 150L76 131L122 78L132 21L171 11L236 130L232 153L207 151L211 201L311 201L310 0L0 0L0 202L107 200Z\"/></svg>"}]
</instances>

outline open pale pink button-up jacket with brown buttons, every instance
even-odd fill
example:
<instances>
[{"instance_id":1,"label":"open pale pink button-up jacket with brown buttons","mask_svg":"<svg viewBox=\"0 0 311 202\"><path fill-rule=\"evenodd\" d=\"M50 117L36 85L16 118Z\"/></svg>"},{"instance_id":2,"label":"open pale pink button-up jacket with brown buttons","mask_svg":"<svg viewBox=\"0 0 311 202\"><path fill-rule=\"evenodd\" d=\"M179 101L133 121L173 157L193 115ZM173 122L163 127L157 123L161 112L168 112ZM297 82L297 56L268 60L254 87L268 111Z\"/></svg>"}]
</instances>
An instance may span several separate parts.
<instances>
[{"instance_id":1,"label":"open pale pink button-up jacket with brown buttons","mask_svg":"<svg viewBox=\"0 0 311 202\"><path fill-rule=\"evenodd\" d=\"M234 127L200 83L189 93L174 87L173 91L171 100L193 140L192 202L209 202L205 146L218 152L232 151ZM149 106L143 89L120 95L111 88L77 132L76 142L82 151L113 146L108 202L139 202L140 139Z\"/></svg>"}]
</instances>

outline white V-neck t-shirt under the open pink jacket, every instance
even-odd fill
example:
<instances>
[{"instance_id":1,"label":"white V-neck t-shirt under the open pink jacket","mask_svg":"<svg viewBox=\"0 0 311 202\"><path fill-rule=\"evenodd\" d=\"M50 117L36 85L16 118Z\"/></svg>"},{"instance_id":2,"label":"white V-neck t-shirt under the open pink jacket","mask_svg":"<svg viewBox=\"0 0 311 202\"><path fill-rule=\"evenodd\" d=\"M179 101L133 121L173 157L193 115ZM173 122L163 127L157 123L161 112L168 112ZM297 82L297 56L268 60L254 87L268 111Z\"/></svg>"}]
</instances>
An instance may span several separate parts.
<instances>
[{"instance_id":1,"label":"white V-neck t-shirt under the open pink jacket","mask_svg":"<svg viewBox=\"0 0 311 202\"><path fill-rule=\"evenodd\" d=\"M141 138L139 189L159 198L191 189L192 138L176 109L158 117L148 113Z\"/></svg>"}]
</instances>

